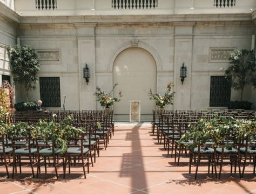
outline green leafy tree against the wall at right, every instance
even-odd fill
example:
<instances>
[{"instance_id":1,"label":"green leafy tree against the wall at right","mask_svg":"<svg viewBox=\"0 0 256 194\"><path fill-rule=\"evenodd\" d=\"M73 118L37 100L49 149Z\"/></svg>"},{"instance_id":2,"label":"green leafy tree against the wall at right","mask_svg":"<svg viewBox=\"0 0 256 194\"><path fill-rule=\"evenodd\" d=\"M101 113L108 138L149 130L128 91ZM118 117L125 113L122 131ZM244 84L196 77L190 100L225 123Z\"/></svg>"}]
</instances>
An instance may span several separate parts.
<instances>
[{"instance_id":1,"label":"green leafy tree against the wall at right","mask_svg":"<svg viewBox=\"0 0 256 194\"><path fill-rule=\"evenodd\" d=\"M241 89L240 100L247 85L256 87L256 64L254 50L237 50L230 54L230 66L226 76L231 77L231 84L235 90Z\"/></svg>"}]
</instances>

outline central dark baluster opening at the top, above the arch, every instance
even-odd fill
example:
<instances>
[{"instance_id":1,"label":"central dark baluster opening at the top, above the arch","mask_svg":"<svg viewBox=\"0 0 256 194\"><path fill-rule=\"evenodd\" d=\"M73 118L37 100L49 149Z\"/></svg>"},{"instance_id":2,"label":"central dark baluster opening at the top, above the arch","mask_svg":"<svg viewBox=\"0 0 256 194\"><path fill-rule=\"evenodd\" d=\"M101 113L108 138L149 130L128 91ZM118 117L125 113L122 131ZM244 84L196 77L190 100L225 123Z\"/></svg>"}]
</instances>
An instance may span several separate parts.
<instances>
[{"instance_id":1,"label":"central dark baluster opening at the top, above the arch","mask_svg":"<svg viewBox=\"0 0 256 194\"><path fill-rule=\"evenodd\" d=\"M112 0L114 9L153 9L157 5L158 0Z\"/></svg>"}]
</instances>

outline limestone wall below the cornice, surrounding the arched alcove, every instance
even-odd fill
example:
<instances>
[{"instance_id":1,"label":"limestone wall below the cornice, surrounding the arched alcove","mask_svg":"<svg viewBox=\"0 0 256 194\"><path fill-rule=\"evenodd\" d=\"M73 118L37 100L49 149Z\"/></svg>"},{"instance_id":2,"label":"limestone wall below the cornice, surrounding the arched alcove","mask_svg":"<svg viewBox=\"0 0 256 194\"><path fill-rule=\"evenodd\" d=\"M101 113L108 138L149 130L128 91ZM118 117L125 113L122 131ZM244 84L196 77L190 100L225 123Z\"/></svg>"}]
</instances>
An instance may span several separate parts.
<instances>
[{"instance_id":1,"label":"limestone wall below the cornice, surrounding the arched alcove","mask_svg":"<svg viewBox=\"0 0 256 194\"><path fill-rule=\"evenodd\" d=\"M143 16L23 17L17 30L22 44L59 52L58 62L41 63L39 77L60 77L62 103L66 95L67 109L96 108L95 87L110 91L114 60L133 46L147 50L156 60L158 93L167 82L174 82L176 98L169 108L207 109L211 75L224 75L228 66L225 53L251 49L254 32L250 14L148 16L146 21ZM182 85L183 62L187 78ZM91 70L88 85L82 75L85 63ZM30 93L31 100L39 98L38 89ZM239 94L232 91L232 100L239 99ZM244 99L252 96L248 88Z\"/></svg>"}]
</instances>

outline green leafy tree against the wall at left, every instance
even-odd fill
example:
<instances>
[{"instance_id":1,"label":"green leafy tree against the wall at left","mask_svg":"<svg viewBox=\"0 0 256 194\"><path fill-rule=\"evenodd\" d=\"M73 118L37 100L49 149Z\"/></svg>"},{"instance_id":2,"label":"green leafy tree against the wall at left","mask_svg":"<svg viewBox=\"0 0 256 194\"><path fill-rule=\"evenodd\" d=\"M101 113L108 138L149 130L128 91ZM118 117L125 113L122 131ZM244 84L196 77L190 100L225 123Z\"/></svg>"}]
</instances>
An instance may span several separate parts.
<instances>
[{"instance_id":1,"label":"green leafy tree against the wall at left","mask_svg":"<svg viewBox=\"0 0 256 194\"><path fill-rule=\"evenodd\" d=\"M35 50L28 45L10 46L7 48L11 65L11 73L14 84L25 86L26 101L28 102L28 91L35 89L37 83L36 75L39 71L39 63Z\"/></svg>"}]
</instances>

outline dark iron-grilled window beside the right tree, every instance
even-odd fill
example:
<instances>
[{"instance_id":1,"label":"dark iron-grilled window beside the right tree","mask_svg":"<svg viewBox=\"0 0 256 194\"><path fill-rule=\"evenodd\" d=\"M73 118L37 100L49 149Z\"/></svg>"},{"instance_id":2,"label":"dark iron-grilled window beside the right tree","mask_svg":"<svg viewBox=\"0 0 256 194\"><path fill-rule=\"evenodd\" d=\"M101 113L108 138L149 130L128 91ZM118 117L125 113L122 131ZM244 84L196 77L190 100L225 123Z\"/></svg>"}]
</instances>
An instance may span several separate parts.
<instances>
[{"instance_id":1,"label":"dark iron-grilled window beside the right tree","mask_svg":"<svg viewBox=\"0 0 256 194\"><path fill-rule=\"evenodd\" d=\"M230 103L231 82L225 76L211 76L210 107L227 107Z\"/></svg>"}]
</instances>

